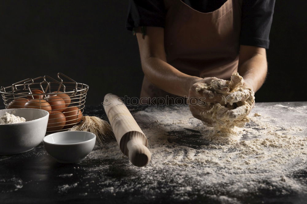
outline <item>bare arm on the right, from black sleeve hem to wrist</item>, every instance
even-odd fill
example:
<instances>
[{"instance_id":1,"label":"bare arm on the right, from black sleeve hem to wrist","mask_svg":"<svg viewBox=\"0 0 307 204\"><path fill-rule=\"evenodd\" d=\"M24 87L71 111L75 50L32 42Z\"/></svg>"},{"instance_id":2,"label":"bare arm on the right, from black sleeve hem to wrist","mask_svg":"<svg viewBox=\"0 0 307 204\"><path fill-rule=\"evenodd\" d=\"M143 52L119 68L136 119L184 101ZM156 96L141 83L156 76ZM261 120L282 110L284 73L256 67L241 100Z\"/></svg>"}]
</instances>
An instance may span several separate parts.
<instances>
[{"instance_id":1,"label":"bare arm on the right, from black sleeve hem to wrist","mask_svg":"<svg viewBox=\"0 0 307 204\"><path fill-rule=\"evenodd\" d=\"M266 49L241 45L238 73L254 92L260 89L267 73Z\"/></svg>"}]
</instances>

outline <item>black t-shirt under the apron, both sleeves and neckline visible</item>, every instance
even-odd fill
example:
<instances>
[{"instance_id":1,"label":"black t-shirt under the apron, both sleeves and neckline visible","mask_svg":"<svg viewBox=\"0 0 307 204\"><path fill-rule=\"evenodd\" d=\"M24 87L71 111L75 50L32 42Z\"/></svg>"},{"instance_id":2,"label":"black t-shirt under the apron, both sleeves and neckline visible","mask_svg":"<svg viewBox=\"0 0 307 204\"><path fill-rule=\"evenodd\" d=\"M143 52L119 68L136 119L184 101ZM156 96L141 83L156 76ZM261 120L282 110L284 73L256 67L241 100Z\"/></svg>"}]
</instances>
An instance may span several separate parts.
<instances>
[{"instance_id":1,"label":"black t-shirt under the apron, both sleeves and neckline visible","mask_svg":"<svg viewBox=\"0 0 307 204\"><path fill-rule=\"evenodd\" d=\"M180 1L180 0L178 0ZM208 13L220 8L227 0L182 0L193 9ZM275 0L241 0L240 44L269 48ZM129 0L126 28L165 26L163 0Z\"/></svg>"}]
</instances>

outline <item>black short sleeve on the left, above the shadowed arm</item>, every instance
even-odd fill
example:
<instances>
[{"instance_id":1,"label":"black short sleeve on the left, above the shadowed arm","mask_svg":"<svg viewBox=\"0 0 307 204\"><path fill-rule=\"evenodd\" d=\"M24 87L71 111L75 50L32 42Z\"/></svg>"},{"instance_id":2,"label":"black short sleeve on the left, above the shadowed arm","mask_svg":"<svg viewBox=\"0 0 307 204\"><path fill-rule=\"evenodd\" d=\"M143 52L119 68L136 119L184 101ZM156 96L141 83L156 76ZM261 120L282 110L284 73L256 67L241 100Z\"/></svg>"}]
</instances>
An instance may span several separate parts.
<instances>
[{"instance_id":1,"label":"black short sleeve on the left, above the shadowed arm","mask_svg":"<svg viewBox=\"0 0 307 204\"><path fill-rule=\"evenodd\" d=\"M163 0L129 0L126 28L153 26L164 27L165 6Z\"/></svg>"}]
</instances>

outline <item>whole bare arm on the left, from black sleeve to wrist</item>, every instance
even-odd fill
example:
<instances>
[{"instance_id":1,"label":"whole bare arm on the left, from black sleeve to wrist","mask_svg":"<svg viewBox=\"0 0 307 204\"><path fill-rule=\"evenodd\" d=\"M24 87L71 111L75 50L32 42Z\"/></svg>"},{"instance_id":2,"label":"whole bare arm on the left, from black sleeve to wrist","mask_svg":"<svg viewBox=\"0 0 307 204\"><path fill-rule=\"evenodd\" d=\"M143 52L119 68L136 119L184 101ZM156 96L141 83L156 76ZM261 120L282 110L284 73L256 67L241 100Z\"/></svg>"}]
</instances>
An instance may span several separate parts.
<instances>
[{"instance_id":1,"label":"whole bare arm on the left, from black sleeve to wrist","mask_svg":"<svg viewBox=\"0 0 307 204\"><path fill-rule=\"evenodd\" d=\"M144 36L138 28L136 36L142 70L149 81L168 93L188 96L191 85L201 78L184 74L166 62L164 28L147 27Z\"/></svg>"}]
</instances>

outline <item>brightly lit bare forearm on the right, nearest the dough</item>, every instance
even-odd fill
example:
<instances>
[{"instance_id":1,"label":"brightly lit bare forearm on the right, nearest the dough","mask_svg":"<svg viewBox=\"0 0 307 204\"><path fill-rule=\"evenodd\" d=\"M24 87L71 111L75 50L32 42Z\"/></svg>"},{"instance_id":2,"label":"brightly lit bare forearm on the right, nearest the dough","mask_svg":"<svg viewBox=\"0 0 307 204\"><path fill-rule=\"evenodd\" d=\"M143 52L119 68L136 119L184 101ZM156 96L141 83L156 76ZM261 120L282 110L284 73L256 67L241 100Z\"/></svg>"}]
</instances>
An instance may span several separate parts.
<instances>
[{"instance_id":1,"label":"brightly lit bare forearm on the right, nearest the dough","mask_svg":"<svg viewBox=\"0 0 307 204\"><path fill-rule=\"evenodd\" d=\"M239 63L238 73L250 88L256 92L266 79L267 62L265 54L255 54Z\"/></svg>"}]
</instances>

